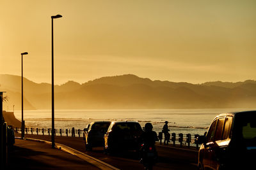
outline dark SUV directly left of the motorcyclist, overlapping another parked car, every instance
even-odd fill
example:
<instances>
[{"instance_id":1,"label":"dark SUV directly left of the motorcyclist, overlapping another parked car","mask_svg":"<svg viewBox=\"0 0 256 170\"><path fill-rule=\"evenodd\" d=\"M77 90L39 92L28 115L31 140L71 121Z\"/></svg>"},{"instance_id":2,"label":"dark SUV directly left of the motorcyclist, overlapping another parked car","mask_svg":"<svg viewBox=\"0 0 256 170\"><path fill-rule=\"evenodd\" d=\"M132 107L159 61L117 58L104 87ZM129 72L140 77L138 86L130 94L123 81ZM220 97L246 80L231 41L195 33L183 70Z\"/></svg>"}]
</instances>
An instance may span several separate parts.
<instances>
[{"instance_id":1,"label":"dark SUV directly left of the motorcyclist, overlapping another parked car","mask_svg":"<svg viewBox=\"0 0 256 170\"><path fill-rule=\"evenodd\" d=\"M138 122L112 122L104 135L104 150L107 153L117 149L138 151L142 132Z\"/></svg>"}]
</instances>

